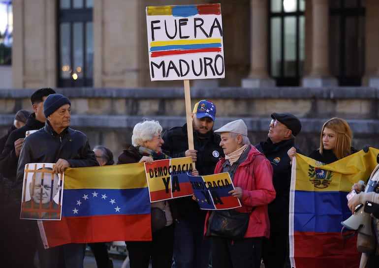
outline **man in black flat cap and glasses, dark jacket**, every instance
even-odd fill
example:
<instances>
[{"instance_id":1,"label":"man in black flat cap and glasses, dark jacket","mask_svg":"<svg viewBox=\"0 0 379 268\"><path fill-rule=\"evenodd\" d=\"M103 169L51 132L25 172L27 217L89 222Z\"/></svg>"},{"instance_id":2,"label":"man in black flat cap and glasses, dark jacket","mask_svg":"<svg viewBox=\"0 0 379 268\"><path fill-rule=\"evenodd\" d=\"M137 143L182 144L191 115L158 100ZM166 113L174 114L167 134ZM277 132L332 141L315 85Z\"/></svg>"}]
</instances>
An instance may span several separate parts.
<instances>
[{"instance_id":1,"label":"man in black flat cap and glasses, dark jacket","mask_svg":"<svg viewBox=\"0 0 379 268\"><path fill-rule=\"evenodd\" d=\"M268 205L270 218L270 238L263 240L262 257L265 268L289 267L289 188L291 182L291 159L287 155L288 149L295 147L295 136L301 130L301 122L289 113L271 114L268 139L255 147L263 152L274 168L272 182L276 191L276 198ZM275 257L273 257L275 256Z\"/></svg>"}]
</instances>

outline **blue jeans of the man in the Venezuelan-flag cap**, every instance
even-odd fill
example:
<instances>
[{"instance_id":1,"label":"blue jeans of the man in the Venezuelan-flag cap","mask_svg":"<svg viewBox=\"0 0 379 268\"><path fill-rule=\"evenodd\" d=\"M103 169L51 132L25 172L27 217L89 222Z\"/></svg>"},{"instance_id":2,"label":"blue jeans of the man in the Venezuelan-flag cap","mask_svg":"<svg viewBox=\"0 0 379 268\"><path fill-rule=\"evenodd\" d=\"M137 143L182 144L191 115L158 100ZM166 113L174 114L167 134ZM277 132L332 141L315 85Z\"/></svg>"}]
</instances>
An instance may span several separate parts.
<instances>
[{"instance_id":1,"label":"blue jeans of the man in the Venezuelan-flag cap","mask_svg":"<svg viewBox=\"0 0 379 268\"><path fill-rule=\"evenodd\" d=\"M179 219L175 225L172 268L208 268L211 239L204 240L204 221Z\"/></svg>"}]
</instances>

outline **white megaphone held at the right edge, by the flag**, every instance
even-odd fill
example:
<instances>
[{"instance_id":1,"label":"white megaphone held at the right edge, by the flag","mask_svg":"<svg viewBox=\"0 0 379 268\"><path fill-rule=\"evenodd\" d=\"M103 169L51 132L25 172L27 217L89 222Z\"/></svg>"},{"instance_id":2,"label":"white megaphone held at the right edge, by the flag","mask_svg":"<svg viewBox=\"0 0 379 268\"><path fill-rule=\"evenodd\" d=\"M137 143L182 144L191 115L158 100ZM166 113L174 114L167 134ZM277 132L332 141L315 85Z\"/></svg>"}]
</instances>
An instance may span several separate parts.
<instances>
[{"instance_id":1,"label":"white megaphone held at the right edge, by the flag","mask_svg":"<svg viewBox=\"0 0 379 268\"><path fill-rule=\"evenodd\" d=\"M348 219L341 222L343 226L350 230L356 230L357 233L372 236L373 232L371 230L371 216L369 213L364 211L364 205L360 205L354 211Z\"/></svg>"}]
</instances>

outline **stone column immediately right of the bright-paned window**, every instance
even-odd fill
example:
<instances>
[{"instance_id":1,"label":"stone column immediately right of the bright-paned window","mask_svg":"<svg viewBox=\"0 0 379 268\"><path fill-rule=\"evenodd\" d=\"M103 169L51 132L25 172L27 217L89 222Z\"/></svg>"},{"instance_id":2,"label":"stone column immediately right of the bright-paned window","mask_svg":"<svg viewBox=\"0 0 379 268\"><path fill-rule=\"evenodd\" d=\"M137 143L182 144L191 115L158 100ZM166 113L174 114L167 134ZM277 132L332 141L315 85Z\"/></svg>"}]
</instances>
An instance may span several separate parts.
<instances>
[{"instance_id":1,"label":"stone column immediately right of the bright-paned window","mask_svg":"<svg viewBox=\"0 0 379 268\"><path fill-rule=\"evenodd\" d=\"M312 0L312 64L311 73L303 79L303 87L337 86L329 71L329 0Z\"/></svg>"}]
</instances>

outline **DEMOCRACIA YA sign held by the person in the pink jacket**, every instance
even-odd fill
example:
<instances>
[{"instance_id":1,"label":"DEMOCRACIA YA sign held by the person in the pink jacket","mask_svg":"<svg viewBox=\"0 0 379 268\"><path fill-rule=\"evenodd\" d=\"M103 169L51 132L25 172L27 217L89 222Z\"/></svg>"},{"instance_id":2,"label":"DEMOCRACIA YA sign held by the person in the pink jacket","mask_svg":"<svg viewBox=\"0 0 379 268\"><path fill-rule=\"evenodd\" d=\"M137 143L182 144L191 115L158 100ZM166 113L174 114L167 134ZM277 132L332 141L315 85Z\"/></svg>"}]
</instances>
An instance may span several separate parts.
<instances>
[{"instance_id":1,"label":"DEMOCRACIA YA sign held by the person in the pink jacket","mask_svg":"<svg viewBox=\"0 0 379 268\"><path fill-rule=\"evenodd\" d=\"M228 194L234 189L229 173L207 176L188 176L201 209L230 209L241 207L238 198Z\"/></svg>"}]
</instances>

